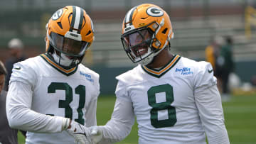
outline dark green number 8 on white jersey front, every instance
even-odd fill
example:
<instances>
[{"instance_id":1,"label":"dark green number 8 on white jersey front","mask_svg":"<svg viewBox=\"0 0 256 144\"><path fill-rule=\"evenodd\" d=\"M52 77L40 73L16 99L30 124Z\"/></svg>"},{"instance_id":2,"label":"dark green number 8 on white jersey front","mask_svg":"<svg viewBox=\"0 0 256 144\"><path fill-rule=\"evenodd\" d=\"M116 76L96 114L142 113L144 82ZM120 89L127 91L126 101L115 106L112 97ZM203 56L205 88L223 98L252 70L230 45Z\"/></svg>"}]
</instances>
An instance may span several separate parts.
<instances>
[{"instance_id":1,"label":"dark green number 8 on white jersey front","mask_svg":"<svg viewBox=\"0 0 256 144\"><path fill-rule=\"evenodd\" d=\"M156 93L165 92L166 102L156 103ZM171 106L174 101L174 90L170 84L164 84L151 87L148 92L149 106L152 107L150 111L151 125L154 128L164 128L174 126L177 122L176 109ZM158 111L166 109L168 111L168 119L158 120Z\"/></svg>"}]
</instances>

